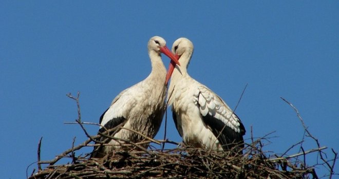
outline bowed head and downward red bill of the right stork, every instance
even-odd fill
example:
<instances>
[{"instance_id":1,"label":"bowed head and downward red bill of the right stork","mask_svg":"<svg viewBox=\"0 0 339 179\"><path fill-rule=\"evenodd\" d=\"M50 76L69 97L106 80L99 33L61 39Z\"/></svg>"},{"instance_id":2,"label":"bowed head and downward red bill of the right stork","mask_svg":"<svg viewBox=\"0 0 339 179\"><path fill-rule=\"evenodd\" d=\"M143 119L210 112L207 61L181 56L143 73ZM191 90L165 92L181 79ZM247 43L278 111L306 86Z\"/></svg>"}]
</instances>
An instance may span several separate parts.
<instances>
[{"instance_id":1,"label":"bowed head and downward red bill of the right stork","mask_svg":"<svg viewBox=\"0 0 339 179\"><path fill-rule=\"evenodd\" d=\"M175 57L179 59L183 68L187 68L189 65L193 51L194 46L192 41L184 37L178 38L172 46L172 52L175 54ZM166 83L170 80L175 65L176 64L171 61L166 75Z\"/></svg>"}]
</instances>

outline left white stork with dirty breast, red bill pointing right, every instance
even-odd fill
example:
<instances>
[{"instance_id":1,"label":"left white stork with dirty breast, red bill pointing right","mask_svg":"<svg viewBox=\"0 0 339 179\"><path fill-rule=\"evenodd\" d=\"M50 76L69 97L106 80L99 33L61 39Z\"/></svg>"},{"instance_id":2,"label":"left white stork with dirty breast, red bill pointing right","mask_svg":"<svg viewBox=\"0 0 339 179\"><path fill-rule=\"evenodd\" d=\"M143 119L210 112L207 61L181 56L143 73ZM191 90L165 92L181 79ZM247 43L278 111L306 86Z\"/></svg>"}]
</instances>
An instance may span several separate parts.
<instances>
[{"instance_id":1,"label":"left white stork with dirty breast, red bill pointing right","mask_svg":"<svg viewBox=\"0 0 339 179\"><path fill-rule=\"evenodd\" d=\"M161 60L161 53L179 64L177 58L166 47L166 41L154 36L148 41L148 55L152 63L152 72L143 81L122 91L100 117L99 132L114 128L126 122L123 127L136 130L142 135L154 138L157 134L165 111L165 94L167 89L166 68ZM102 127L104 126L104 127ZM121 129L113 136L131 142L141 142L144 138L137 133ZM102 137L100 141L104 140ZM109 145L94 148L91 157L102 158L108 152L120 147L121 141L109 140ZM148 144L142 145L143 147Z\"/></svg>"}]
</instances>

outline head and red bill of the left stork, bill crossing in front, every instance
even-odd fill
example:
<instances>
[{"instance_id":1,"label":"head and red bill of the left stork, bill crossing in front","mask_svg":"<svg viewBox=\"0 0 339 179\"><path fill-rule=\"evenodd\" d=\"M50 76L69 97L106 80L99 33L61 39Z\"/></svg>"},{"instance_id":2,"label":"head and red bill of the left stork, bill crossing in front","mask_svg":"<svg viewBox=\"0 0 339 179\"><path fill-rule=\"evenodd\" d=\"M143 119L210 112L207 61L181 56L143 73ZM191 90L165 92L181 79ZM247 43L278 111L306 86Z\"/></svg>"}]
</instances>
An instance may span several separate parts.
<instances>
[{"instance_id":1,"label":"head and red bill of the left stork, bill crossing in front","mask_svg":"<svg viewBox=\"0 0 339 179\"><path fill-rule=\"evenodd\" d=\"M173 63L174 65L176 64L180 65L178 58L170 51L170 49L167 48L166 41L162 37L154 36L148 40L148 53L150 53L151 51L154 51L158 53L159 55L160 53L163 53L168 58L171 59L171 63ZM167 84L167 80L165 84Z\"/></svg>"}]
</instances>

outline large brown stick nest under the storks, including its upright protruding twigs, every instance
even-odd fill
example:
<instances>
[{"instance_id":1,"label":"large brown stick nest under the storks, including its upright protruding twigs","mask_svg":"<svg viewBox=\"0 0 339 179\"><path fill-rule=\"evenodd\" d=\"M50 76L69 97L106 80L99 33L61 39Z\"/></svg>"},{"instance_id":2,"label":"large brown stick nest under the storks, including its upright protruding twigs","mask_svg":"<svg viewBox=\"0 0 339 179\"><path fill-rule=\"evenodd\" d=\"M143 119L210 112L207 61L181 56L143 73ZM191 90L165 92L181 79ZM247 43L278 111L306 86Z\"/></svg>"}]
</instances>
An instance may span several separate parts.
<instances>
[{"instance_id":1,"label":"large brown stick nest under the storks, including its upright protruding twigs","mask_svg":"<svg viewBox=\"0 0 339 179\"><path fill-rule=\"evenodd\" d=\"M263 140L267 140L267 136L254 140L251 129L251 144L246 144L243 149L243 154L237 151L216 152L190 146L177 147L178 144L169 140L154 140L144 136L145 141L141 143L133 143L128 140L121 140L123 143L122 149L117 149L112 153L107 154L102 159L91 159L90 154L76 155L75 151L83 147L103 145L90 144L97 142L97 139L106 137L114 140L119 140L110 137L111 132L123 128L123 124L109 129L97 136L90 136L85 127L84 122L81 122L79 93L78 98L68 97L77 101L78 104L78 119L76 124L79 124L83 129L88 140L84 141L79 146L74 146L60 155L57 155L53 160L41 161L40 148L41 140L37 149L37 172L34 169L31 176L28 178L318 178L315 169L316 167L325 167L329 171L329 178L334 173L334 164L337 159L337 153L332 149L334 154L333 159L327 159L327 156L322 150L327 147L321 147L317 139L307 130L302 118L294 106L290 104L297 113L299 119L303 122L305 132L308 137L311 137L317 144L316 149L305 151L302 144L295 144L291 148L299 145L300 153L287 155L287 151L280 155L270 155L262 150ZM137 132L137 131L134 131ZM141 135L139 133L139 135ZM143 148L141 144L149 143L148 149ZM172 149L164 149L164 145L175 144ZM107 145L107 144L106 144ZM162 149L156 149L154 145L162 145ZM161 147L158 147L161 148ZM317 152L321 163L308 166L305 163L306 156L311 152ZM57 164L60 159L68 158L67 164ZM42 164L48 166L42 168Z\"/></svg>"}]
</instances>

